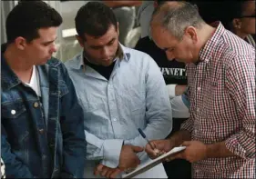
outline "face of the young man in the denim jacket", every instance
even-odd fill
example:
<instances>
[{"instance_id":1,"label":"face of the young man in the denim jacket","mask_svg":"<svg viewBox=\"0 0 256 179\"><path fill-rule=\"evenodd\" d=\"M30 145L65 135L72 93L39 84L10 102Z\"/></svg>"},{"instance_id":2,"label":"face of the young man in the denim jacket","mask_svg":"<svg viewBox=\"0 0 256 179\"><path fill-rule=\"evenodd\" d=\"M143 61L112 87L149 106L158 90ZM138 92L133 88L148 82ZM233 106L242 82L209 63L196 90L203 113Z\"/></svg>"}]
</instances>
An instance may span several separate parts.
<instances>
[{"instance_id":1,"label":"face of the young man in the denim jacket","mask_svg":"<svg viewBox=\"0 0 256 179\"><path fill-rule=\"evenodd\" d=\"M39 37L24 45L26 61L32 65L44 65L56 52L57 27L41 28ZM18 37L19 38L19 37Z\"/></svg>"}]
</instances>

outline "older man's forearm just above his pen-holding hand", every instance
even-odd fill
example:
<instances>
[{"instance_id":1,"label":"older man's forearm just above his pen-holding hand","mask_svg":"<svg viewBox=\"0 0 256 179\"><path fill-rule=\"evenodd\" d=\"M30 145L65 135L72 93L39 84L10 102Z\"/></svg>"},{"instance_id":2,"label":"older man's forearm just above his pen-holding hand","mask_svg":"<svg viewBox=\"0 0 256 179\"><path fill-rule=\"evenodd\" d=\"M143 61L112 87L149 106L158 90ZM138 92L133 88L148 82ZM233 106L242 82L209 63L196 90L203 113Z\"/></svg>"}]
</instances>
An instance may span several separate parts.
<instances>
[{"instance_id":1,"label":"older man's forearm just above his pen-holding hand","mask_svg":"<svg viewBox=\"0 0 256 179\"><path fill-rule=\"evenodd\" d=\"M187 130L179 130L178 132L172 134L169 137L169 140L174 144L174 146L179 146L184 141L190 141L191 140L191 134Z\"/></svg>"}]
</instances>

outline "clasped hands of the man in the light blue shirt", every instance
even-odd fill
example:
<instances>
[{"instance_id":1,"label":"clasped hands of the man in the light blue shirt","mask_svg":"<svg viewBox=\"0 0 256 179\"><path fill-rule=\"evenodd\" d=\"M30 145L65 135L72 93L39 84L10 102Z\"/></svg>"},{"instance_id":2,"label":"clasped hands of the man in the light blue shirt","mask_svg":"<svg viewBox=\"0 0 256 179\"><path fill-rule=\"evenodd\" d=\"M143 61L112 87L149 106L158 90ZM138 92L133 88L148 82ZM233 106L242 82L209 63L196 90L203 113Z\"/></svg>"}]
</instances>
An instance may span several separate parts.
<instances>
[{"instance_id":1,"label":"clasped hands of the man in the light blue shirt","mask_svg":"<svg viewBox=\"0 0 256 179\"><path fill-rule=\"evenodd\" d=\"M122 146L117 168L110 168L103 164L98 164L95 168L94 174L100 174L101 176L107 178L116 178L118 174L122 173L123 171L126 171L130 168L136 168L138 164L140 164L140 160L138 159L136 153L142 152L143 150L144 148L140 146L125 144Z\"/></svg>"}]
</instances>

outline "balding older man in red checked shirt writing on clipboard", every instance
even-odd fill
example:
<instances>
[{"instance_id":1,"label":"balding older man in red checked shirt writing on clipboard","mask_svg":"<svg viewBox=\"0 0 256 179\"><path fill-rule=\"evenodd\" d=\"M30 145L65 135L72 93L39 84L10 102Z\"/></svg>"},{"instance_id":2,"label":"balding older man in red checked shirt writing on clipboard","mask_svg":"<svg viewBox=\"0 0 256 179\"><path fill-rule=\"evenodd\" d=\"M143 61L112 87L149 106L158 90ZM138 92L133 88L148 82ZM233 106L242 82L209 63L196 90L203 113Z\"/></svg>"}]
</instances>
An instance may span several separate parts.
<instances>
[{"instance_id":1,"label":"balding older man in red checked shirt writing on clipboard","mask_svg":"<svg viewBox=\"0 0 256 179\"><path fill-rule=\"evenodd\" d=\"M181 130L152 143L164 152L187 146L168 160L188 160L195 178L255 178L255 49L185 2L160 5L151 33L169 60L188 64L191 104Z\"/></svg>"}]
</instances>

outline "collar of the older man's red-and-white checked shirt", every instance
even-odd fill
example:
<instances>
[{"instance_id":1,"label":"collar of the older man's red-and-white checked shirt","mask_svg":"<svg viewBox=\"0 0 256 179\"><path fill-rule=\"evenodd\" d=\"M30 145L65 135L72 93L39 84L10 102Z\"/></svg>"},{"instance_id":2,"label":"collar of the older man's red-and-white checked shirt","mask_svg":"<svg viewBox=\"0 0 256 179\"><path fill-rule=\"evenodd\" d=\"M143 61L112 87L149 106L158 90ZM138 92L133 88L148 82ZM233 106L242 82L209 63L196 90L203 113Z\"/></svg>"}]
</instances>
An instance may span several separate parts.
<instances>
[{"instance_id":1,"label":"collar of the older man's red-and-white checked shirt","mask_svg":"<svg viewBox=\"0 0 256 179\"><path fill-rule=\"evenodd\" d=\"M214 22L211 25L213 27L217 26L217 28L213 35L210 37L210 39L207 41L206 45L204 45L202 49L200 49L199 62L209 62L214 51L214 46L218 44L220 37L225 32L225 28L220 23L220 21Z\"/></svg>"}]
</instances>

